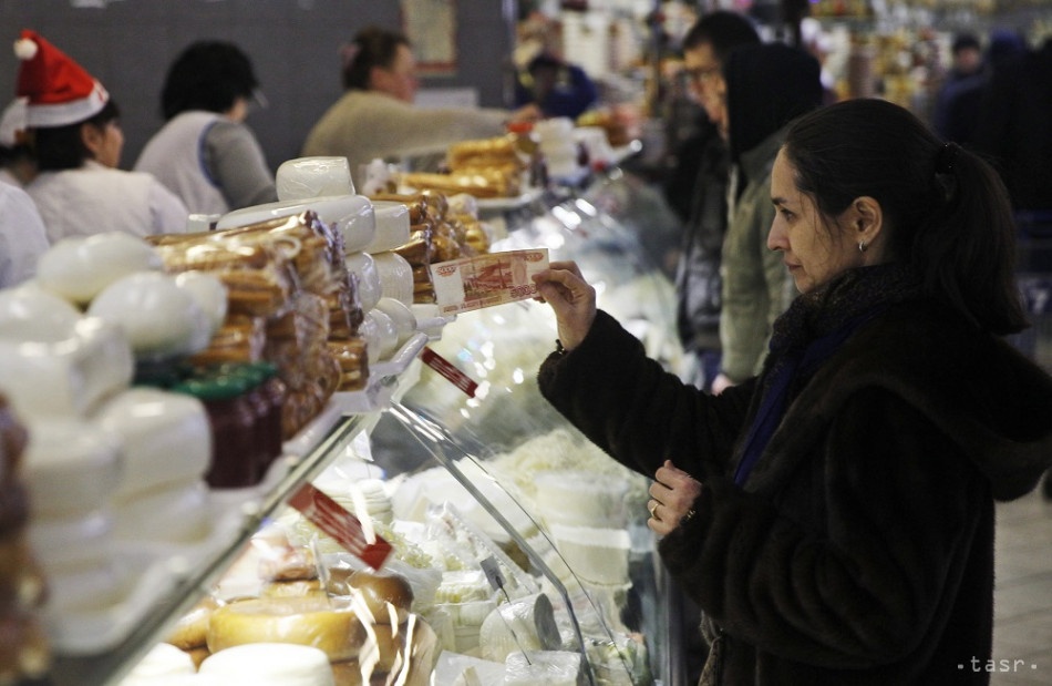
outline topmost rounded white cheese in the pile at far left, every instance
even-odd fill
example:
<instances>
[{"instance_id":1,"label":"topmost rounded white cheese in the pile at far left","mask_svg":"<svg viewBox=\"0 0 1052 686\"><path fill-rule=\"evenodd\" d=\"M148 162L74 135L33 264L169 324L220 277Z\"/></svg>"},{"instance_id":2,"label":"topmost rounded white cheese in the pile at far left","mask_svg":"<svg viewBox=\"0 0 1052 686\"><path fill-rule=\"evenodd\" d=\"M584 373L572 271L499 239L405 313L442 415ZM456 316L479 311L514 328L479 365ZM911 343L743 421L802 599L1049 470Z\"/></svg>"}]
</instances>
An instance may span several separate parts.
<instances>
[{"instance_id":1,"label":"topmost rounded white cheese in the pile at far left","mask_svg":"<svg viewBox=\"0 0 1052 686\"><path fill-rule=\"evenodd\" d=\"M37 283L72 303L86 304L116 279L163 267L161 254L125 232L63 238L40 256Z\"/></svg>"}]
</instances>

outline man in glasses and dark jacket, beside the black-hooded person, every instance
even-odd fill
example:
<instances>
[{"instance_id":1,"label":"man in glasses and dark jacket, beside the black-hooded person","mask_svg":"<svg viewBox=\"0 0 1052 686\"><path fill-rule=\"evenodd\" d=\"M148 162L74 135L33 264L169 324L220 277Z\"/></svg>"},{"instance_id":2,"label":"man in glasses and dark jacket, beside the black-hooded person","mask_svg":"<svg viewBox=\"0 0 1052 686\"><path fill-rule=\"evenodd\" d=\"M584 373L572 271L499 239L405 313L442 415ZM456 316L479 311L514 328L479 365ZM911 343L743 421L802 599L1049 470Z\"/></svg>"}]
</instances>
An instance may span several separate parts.
<instances>
[{"instance_id":1,"label":"man in glasses and dark jacket, beside the black-hooded person","mask_svg":"<svg viewBox=\"0 0 1052 686\"><path fill-rule=\"evenodd\" d=\"M745 16L720 10L699 19L683 38L690 95L704 111L695 136L678 151L683 185L666 187L670 206L685 205L675 269L675 326L692 364L684 377L711 389L720 366L720 252L728 219L730 158L716 122L726 120L723 64L741 45L760 44ZM688 185L689 184L689 185Z\"/></svg>"}]
</instances>

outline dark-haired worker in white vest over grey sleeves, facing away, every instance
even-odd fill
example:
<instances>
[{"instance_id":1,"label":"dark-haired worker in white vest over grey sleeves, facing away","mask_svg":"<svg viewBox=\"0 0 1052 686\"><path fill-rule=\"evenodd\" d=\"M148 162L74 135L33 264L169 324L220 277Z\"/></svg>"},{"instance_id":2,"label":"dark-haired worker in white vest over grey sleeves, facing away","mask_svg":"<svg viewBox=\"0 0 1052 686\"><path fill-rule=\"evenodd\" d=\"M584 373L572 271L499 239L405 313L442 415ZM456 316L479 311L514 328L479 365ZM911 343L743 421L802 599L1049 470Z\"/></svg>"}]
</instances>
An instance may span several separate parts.
<instances>
[{"instance_id":1,"label":"dark-haired worker in white vest over grey sleeves, facing away","mask_svg":"<svg viewBox=\"0 0 1052 686\"><path fill-rule=\"evenodd\" d=\"M245 124L258 86L251 61L237 45L190 44L165 76L161 111L167 123L134 168L153 174L194 214L278 199L274 173Z\"/></svg>"}]
</instances>

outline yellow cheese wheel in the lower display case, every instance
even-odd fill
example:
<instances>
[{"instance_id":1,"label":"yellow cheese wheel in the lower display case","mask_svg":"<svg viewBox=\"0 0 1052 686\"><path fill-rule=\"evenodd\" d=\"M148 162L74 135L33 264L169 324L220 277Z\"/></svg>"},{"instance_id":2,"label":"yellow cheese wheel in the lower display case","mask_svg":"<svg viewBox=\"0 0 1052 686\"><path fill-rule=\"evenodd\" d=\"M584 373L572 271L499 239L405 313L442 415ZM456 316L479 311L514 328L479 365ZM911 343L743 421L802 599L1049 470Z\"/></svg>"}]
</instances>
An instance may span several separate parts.
<instances>
[{"instance_id":1,"label":"yellow cheese wheel in the lower display case","mask_svg":"<svg viewBox=\"0 0 1052 686\"><path fill-rule=\"evenodd\" d=\"M292 643L320 648L331 662L354 659L365 627L347 598L297 597L239 601L216 610L208 622L208 649L247 643Z\"/></svg>"}]
</instances>

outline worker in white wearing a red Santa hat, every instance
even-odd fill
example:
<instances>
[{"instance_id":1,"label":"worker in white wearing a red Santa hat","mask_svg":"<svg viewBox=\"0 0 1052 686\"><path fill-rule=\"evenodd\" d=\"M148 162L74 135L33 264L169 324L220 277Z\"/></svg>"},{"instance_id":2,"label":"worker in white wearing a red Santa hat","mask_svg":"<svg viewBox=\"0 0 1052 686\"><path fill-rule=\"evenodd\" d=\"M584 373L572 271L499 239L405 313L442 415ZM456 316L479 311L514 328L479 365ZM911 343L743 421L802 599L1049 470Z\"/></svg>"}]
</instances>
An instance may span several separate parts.
<instances>
[{"instance_id":1,"label":"worker in white wearing a red Santa hat","mask_svg":"<svg viewBox=\"0 0 1052 686\"><path fill-rule=\"evenodd\" d=\"M186 206L175 194L149 174L117 168L124 134L102 84L34 31L23 30L14 50L38 168L25 191L48 239L104 231L185 232Z\"/></svg>"}]
</instances>

